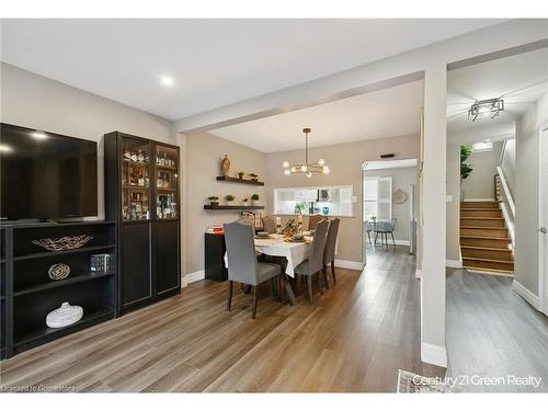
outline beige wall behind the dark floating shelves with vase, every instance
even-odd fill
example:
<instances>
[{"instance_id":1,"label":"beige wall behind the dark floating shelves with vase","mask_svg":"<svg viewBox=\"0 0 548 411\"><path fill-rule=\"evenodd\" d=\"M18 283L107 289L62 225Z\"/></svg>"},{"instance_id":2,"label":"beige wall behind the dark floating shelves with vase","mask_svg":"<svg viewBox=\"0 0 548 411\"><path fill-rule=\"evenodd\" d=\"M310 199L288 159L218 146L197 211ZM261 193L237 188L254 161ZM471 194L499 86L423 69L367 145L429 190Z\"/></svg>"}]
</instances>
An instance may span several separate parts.
<instances>
[{"instance_id":1,"label":"beige wall behind the dark floating shelves with vase","mask_svg":"<svg viewBox=\"0 0 548 411\"><path fill-rule=\"evenodd\" d=\"M259 194L263 205L267 206L270 198L265 195L266 187L220 182L220 160L228 155L231 162L230 174L238 171L254 172L259 180L267 183L266 155L249 147L231 142L207 133L186 135L183 150L186 155L186 202L183 227L185 233L186 274L204 270L204 231L209 225L221 225L233 221L240 212L213 212L204 209L207 197L216 195L224 204L227 194L233 194L237 201L242 196L251 197ZM258 212L264 215L264 212Z\"/></svg>"}]
</instances>

